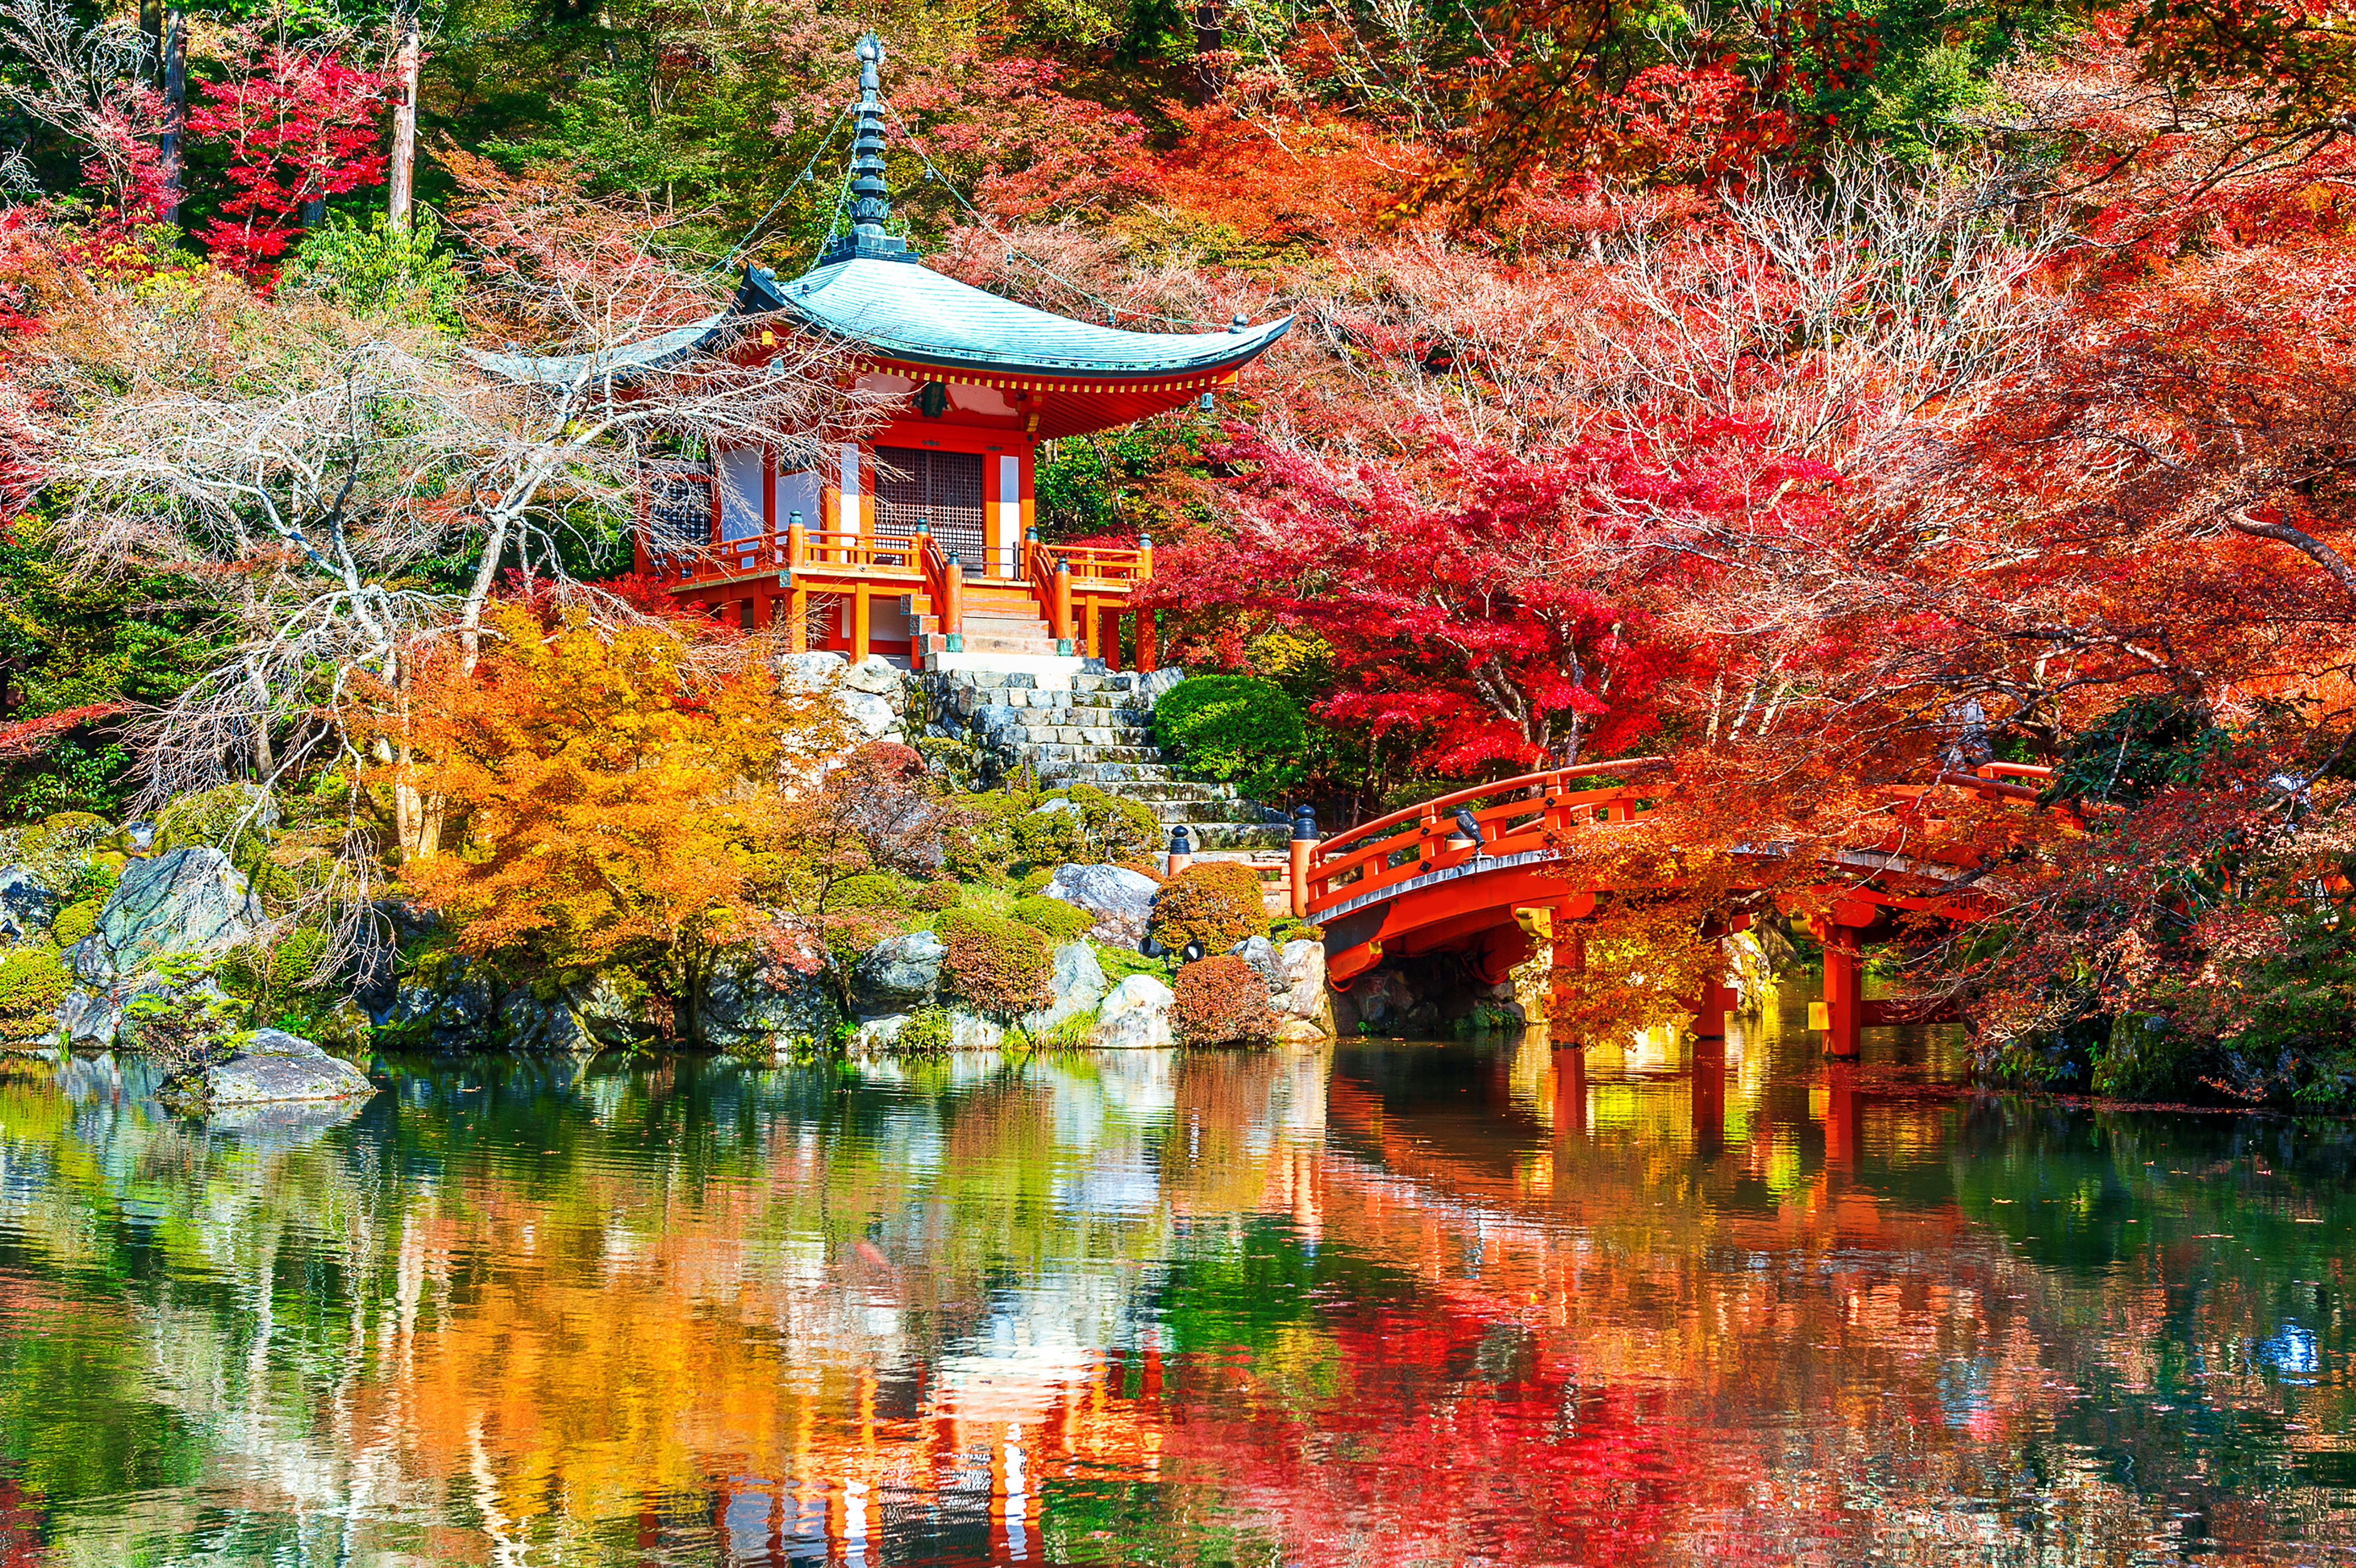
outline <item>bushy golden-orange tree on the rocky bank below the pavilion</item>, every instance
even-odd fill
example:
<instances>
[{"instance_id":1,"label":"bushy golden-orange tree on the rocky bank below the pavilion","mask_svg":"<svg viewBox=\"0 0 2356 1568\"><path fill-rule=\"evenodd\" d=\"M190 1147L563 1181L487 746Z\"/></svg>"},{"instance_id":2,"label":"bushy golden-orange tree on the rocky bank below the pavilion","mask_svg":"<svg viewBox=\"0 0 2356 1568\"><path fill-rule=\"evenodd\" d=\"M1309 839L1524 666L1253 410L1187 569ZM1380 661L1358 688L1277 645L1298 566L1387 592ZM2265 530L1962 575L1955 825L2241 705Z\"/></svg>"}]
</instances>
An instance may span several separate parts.
<instances>
[{"instance_id":1,"label":"bushy golden-orange tree on the rocky bank below the pavilion","mask_svg":"<svg viewBox=\"0 0 2356 1568\"><path fill-rule=\"evenodd\" d=\"M462 951L556 970L629 968L702 1036L714 968L770 935L761 845L789 789L839 746L820 695L667 626L490 612L481 664L422 678L412 775L455 852L403 885Z\"/></svg>"}]
</instances>

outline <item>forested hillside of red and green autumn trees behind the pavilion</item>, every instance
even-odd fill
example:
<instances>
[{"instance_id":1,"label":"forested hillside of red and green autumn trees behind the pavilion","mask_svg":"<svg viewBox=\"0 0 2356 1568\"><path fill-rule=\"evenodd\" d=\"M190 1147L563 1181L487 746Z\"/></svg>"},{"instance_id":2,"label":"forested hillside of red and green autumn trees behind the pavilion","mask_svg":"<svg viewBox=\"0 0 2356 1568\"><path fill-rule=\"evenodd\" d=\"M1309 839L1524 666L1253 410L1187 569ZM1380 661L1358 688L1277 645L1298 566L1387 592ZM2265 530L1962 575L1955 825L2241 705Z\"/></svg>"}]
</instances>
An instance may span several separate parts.
<instances>
[{"instance_id":1,"label":"forested hillside of red and green autumn trees behind the pavilion","mask_svg":"<svg viewBox=\"0 0 2356 1568\"><path fill-rule=\"evenodd\" d=\"M1628 909L1642 944L1736 845L2052 765L2000 918L1911 958L1988 1071L2344 1107L2347 21L455 0L386 224L405 16L5 0L0 822L262 777L306 803L287 876L398 876L415 704L485 624L570 614L535 582L629 570L634 464L841 412L813 358L591 431L464 348L808 266L872 28L933 266L1296 318L1039 485L1048 537L1152 534L1173 657L1270 683L1263 798L1673 756L1694 892Z\"/></svg>"}]
</instances>

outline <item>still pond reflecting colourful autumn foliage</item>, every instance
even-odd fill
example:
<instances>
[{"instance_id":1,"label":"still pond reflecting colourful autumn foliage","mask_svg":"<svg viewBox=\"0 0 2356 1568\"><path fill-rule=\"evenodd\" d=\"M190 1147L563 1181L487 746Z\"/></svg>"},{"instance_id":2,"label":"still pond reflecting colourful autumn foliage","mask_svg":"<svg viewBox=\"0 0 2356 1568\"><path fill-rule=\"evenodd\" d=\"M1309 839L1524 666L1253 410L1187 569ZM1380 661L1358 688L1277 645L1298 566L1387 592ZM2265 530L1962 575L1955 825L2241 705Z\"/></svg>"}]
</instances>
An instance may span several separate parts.
<instances>
[{"instance_id":1,"label":"still pond reflecting colourful autumn foliage","mask_svg":"<svg viewBox=\"0 0 2356 1568\"><path fill-rule=\"evenodd\" d=\"M5 1563L2356 1556L2347 1123L1939 1031L0 1078Z\"/></svg>"}]
</instances>

